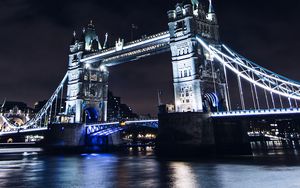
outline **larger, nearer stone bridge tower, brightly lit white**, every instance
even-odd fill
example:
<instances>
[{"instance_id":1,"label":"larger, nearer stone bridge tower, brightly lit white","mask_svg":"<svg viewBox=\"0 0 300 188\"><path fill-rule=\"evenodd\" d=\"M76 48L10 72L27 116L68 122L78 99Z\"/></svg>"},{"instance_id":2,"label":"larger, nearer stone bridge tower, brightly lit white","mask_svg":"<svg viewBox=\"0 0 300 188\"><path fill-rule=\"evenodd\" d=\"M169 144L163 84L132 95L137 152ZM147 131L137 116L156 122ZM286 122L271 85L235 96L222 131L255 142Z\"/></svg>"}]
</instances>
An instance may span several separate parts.
<instances>
[{"instance_id":1,"label":"larger, nearer stone bridge tower, brightly lit white","mask_svg":"<svg viewBox=\"0 0 300 188\"><path fill-rule=\"evenodd\" d=\"M177 112L210 112L228 108L224 69L196 41L200 35L218 48L219 31L211 1L209 10L177 4L168 11Z\"/></svg>"}]
</instances>

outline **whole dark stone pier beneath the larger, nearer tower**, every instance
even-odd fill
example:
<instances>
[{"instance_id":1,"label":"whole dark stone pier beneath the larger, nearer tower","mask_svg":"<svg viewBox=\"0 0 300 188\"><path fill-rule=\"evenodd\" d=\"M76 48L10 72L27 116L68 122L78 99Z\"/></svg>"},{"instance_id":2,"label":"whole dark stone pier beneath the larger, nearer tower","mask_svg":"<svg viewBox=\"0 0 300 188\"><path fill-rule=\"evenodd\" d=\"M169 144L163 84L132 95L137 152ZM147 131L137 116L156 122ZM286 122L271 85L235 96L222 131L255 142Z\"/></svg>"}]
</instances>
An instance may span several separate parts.
<instances>
[{"instance_id":1,"label":"whole dark stone pier beneath the larger, nearer tower","mask_svg":"<svg viewBox=\"0 0 300 188\"><path fill-rule=\"evenodd\" d=\"M159 114L158 151L168 155L249 155L243 126L216 122L206 113Z\"/></svg>"}]
</instances>

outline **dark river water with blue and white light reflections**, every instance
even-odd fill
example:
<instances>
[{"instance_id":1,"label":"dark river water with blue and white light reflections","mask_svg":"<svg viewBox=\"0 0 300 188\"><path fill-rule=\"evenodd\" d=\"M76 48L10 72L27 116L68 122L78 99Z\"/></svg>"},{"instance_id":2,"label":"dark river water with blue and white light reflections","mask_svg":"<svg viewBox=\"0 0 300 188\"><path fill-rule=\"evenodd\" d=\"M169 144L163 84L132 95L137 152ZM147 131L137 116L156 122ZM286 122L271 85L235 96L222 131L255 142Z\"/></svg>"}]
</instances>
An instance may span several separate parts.
<instances>
[{"instance_id":1,"label":"dark river water with blue and white light reflections","mask_svg":"<svg viewBox=\"0 0 300 188\"><path fill-rule=\"evenodd\" d=\"M151 148L125 153L0 155L0 187L300 187L297 153L223 159L160 159Z\"/></svg>"}]
</instances>

